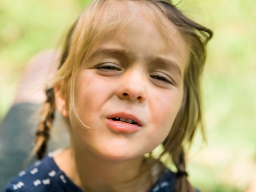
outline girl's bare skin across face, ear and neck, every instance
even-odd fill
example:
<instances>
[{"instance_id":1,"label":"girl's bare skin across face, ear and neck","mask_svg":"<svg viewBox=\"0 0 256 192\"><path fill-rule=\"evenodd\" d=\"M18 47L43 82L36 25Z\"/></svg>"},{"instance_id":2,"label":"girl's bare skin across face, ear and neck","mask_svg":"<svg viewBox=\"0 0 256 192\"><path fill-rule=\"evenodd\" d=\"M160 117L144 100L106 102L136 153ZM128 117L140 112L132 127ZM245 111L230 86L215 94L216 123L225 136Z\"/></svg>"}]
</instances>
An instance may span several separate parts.
<instances>
[{"instance_id":1,"label":"girl's bare skin across face, ear and neck","mask_svg":"<svg viewBox=\"0 0 256 192\"><path fill-rule=\"evenodd\" d=\"M77 114L89 129L56 87L71 146L54 160L82 190L146 192L152 185L150 172L125 182L140 172L144 154L164 141L182 103L189 50L177 41L182 38L174 25L166 27L173 33L168 41L140 10L94 46L76 74L75 89ZM139 123L114 122L115 114Z\"/></svg>"}]
</instances>

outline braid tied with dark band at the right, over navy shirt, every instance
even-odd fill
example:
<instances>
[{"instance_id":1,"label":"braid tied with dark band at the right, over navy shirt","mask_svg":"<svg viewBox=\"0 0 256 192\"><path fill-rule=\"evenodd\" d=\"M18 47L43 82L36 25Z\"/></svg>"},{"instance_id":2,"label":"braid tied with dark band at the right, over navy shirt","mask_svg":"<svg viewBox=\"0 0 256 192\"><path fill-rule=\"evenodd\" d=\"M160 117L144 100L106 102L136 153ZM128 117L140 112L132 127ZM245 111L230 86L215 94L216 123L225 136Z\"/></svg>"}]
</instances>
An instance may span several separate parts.
<instances>
[{"instance_id":1,"label":"braid tied with dark band at the right, over navy shirt","mask_svg":"<svg viewBox=\"0 0 256 192\"><path fill-rule=\"evenodd\" d=\"M175 192L195 192L194 188L188 181L188 174L186 172L185 160L184 160L184 151L181 150L180 154L173 157L175 166L177 167L176 173L176 183L175 183Z\"/></svg>"}]
</instances>

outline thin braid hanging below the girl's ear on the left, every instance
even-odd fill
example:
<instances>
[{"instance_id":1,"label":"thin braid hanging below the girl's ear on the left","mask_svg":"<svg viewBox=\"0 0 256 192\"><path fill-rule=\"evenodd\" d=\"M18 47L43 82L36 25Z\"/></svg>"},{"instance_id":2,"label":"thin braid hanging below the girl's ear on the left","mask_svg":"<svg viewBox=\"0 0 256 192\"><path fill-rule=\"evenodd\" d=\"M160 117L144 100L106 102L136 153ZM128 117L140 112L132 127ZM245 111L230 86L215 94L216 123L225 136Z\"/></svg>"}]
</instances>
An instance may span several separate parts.
<instances>
[{"instance_id":1,"label":"thin braid hanging below the girl's ear on the left","mask_svg":"<svg viewBox=\"0 0 256 192\"><path fill-rule=\"evenodd\" d=\"M47 100L41 111L38 129L36 131L35 146L33 149L37 159L42 159L47 149L47 141L50 138L50 129L54 120L55 102L53 88L46 91Z\"/></svg>"}]
</instances>

